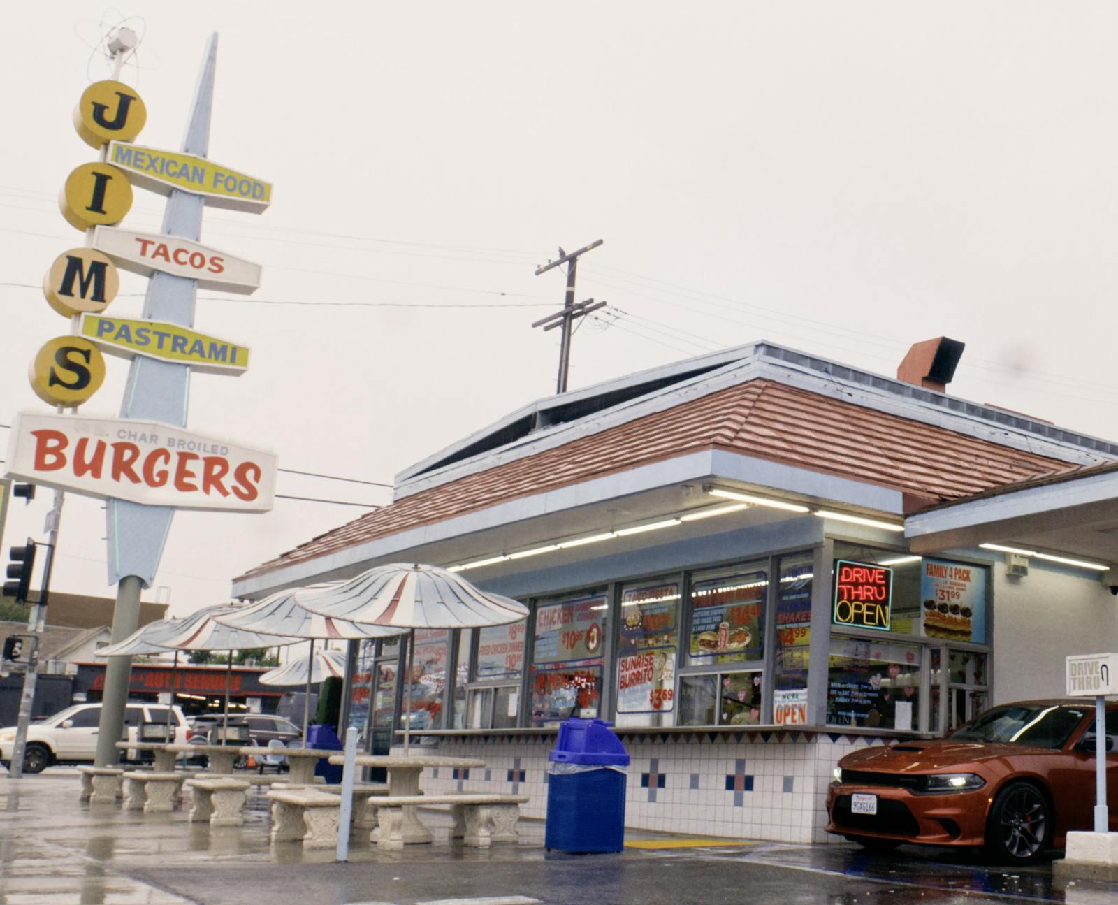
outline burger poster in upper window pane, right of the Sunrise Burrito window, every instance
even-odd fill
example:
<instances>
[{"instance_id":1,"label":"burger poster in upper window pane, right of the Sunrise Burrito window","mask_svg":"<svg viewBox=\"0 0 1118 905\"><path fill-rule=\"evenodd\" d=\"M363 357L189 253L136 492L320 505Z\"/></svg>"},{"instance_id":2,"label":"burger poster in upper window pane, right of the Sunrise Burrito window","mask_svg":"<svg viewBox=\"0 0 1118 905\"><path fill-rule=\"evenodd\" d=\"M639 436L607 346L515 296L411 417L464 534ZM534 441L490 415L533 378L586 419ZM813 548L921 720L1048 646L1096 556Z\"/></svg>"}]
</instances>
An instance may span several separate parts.
<instances>
[{"instance_id":1,"label":"burger poster in upper window pane, right of the Sunrise Burrito window","mask_svg":"<svg viewBox=\"0 0 1118 905\"><path fill-rule=\"evenodd\" d=\"M768 575L749 572L691 591L691 657L759 660Z\"/></svg>"}]
</instances>

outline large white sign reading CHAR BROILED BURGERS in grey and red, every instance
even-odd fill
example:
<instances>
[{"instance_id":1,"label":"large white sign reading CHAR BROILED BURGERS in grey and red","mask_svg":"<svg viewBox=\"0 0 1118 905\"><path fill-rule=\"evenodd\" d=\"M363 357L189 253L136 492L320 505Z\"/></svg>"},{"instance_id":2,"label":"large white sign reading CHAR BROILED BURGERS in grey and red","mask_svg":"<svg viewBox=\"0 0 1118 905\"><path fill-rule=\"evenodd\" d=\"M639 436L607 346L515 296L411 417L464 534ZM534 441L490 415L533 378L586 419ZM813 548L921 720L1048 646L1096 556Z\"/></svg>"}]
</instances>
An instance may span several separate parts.
<instances>
[{"instance_id":1,"label":"large white sign reading CHAR BROILED BURGERS in grey and red","mask_svg":"<svg viewBox=\"0 0 1118 905\"><path fill-rule=\"evenodd\" d=\"M21 412L8 477L86 497L267 512L276 458L157 422Z\"/></svg>"}]
</instances>

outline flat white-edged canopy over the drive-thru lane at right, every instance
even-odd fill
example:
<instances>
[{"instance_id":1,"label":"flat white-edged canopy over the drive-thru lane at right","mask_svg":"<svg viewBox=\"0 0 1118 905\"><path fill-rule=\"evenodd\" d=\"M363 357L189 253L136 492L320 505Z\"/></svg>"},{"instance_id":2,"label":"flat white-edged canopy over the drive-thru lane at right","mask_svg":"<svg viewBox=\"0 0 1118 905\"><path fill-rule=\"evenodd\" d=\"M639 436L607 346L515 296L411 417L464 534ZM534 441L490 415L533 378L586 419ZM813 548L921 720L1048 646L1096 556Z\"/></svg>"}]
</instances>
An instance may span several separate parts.
<instances>
[{"instance_id":1,"label":"flat white-edged canopy over the drive-thru lane at right","mask_svg":"<svg viewBox=\"0 0 1118 905\"><path fill-rule=\"evenodd\" d=\"M909 516L913 553L979 544L1118 563L1118 472L986 494Z\"/></svg>"}]
</instances>

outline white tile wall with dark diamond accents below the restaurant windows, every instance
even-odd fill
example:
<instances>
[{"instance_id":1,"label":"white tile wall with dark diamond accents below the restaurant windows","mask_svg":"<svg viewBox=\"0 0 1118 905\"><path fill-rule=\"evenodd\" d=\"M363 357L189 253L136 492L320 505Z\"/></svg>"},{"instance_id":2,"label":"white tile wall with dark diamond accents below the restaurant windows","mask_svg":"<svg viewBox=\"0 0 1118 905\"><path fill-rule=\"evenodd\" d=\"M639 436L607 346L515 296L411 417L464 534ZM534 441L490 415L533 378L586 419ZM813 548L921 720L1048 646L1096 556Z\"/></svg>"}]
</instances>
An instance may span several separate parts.
<instances>
[{"instance_id":1,"label":"white tile wall with dark diamond accents below the restaurant windows","mask_svg":"<svg viewBox=\"0 0 1118 905\"><path fill-rule=\"evenodd\" d=\"M836 841L824 830L827 822L824 800L831 771L844 754L887 741L819 732L626 734L622 742L632 762L627 771L625 824L730 838ZM521 813L546 817L547 757L555 742L553 735L442 737L439 754L480 757L485 767L471 770L461 780L455 780L449 770L428 770L423 788L433 793L459 789L511 792L509 771L515 769L519 758L524 781L518 791L531 796L521 805ZM664 777L662 789L651 788L656 785L653 761L656 773ZM691 788L692 774L699 777L698 789ZM642 785L645 777L646 786ZM728 789L727 777L741 791ZM747 777L751 777L751 789ZM788 784L792 791L785 791ZM651 794L653 791L655 794Z\"/></svg>"}]
</instances>

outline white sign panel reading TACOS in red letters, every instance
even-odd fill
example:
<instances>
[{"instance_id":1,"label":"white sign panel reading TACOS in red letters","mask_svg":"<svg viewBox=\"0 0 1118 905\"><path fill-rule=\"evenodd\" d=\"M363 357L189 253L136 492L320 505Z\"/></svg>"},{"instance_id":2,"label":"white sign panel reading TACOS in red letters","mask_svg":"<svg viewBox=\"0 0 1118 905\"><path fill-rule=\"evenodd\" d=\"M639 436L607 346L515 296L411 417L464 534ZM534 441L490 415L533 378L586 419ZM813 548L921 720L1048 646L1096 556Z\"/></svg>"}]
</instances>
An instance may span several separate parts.
<instances>
[{"instance_id":1,"label":"white sign panel reading TACOS in red letters","mask_svg":"<svg viewBox=\"0 0 1118 905\"><path fill-rule=\"evenodd\" d=\"M199 289L252 295L260 287L260 265L180 236L97 227L93 247L119 267L151 276L155 271L197 280Z\"/></svg>"}]
</instances>

